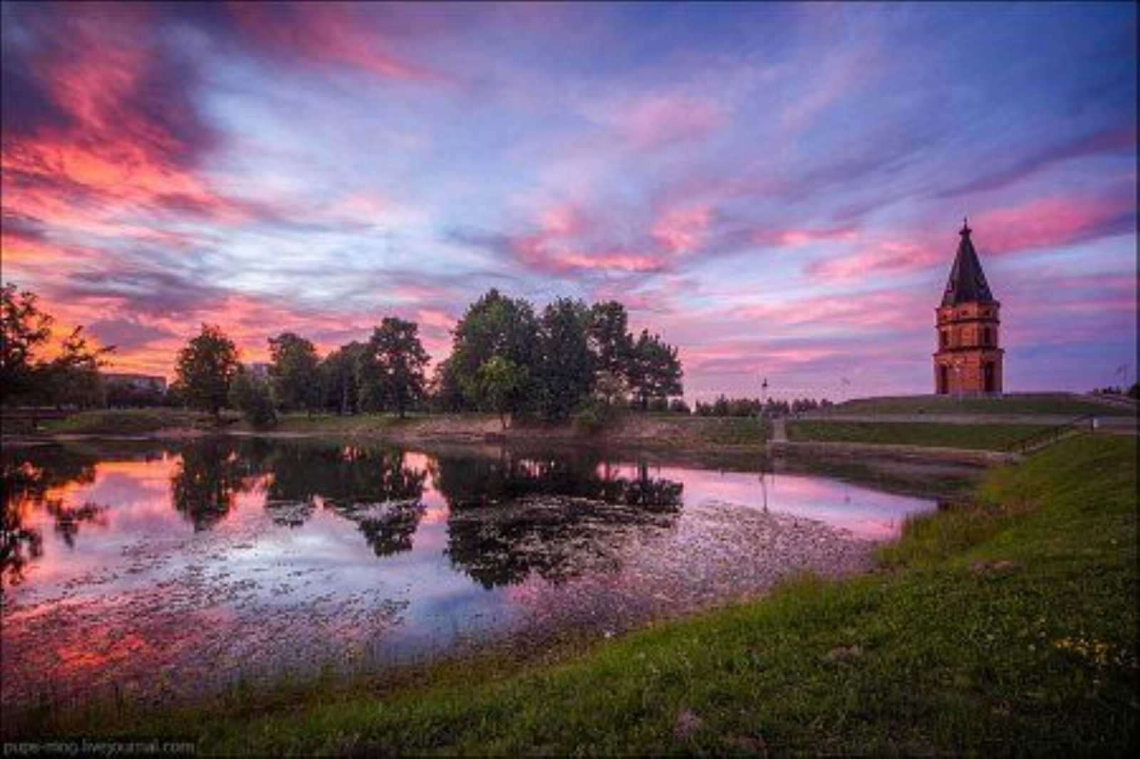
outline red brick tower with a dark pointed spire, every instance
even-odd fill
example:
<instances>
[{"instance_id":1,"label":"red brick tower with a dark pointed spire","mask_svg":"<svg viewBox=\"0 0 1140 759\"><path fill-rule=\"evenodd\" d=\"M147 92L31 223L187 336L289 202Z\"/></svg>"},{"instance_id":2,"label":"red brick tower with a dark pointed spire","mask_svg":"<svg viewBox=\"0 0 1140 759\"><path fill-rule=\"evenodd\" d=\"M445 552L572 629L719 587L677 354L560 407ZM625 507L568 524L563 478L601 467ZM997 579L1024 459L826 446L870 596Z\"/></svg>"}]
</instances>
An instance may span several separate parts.
<instances>
[{"instance_id":1,"label":"red brick tower with a dark pointed spire","mask_svg":"<svg viewBox=\"0 0 1140 759\"><path fill-rule=\"evenodd\" d=\"M982 262L962 220L958 255L937 309L938 352L934 354L936 393L1000 393L1004 351L997 348L997 311Z\"/></svg>"}]
</instances>

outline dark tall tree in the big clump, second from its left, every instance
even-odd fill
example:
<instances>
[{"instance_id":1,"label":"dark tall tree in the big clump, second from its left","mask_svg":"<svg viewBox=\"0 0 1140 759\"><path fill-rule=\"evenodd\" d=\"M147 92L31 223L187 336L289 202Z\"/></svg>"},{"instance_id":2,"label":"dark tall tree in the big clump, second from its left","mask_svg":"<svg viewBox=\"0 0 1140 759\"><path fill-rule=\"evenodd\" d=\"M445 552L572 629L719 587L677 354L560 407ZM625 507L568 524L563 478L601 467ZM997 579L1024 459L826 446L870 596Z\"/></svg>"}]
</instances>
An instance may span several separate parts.
<instances>
[{"instance_id":1,"label":"dark tall tree in the big clump, second from its left","mask_svg":"<svg viewBox=\"0 0 1140 759\"><path fill-rule=\"evenodd\" d=\"M589 324L589 309L581 301L561 297L543 311L535 384L543 416L548 419L569 417L594 389Z\"/></svg>"}]
</instances>

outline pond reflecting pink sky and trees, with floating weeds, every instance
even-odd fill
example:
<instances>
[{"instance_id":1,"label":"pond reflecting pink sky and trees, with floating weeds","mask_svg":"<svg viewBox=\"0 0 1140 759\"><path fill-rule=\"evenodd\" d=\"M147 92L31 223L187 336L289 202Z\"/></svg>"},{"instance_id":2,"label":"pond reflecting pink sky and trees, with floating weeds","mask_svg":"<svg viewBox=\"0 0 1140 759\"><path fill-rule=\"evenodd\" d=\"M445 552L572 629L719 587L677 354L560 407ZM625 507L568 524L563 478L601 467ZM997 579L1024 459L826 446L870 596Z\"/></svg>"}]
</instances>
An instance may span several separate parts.
<instances>
[{"instance_id":1,"label":"pond reflecting pink sky and trees, with floating weeds","mask_svg":"<svg viewBox=\"0 0 1140 759\"><path fill-rule=\"evenodd\" d=\"M236 436L8 449L3 497L6 707L611 636L861 571L937 507L635 454Z\"/></svg>"}]
</instances>

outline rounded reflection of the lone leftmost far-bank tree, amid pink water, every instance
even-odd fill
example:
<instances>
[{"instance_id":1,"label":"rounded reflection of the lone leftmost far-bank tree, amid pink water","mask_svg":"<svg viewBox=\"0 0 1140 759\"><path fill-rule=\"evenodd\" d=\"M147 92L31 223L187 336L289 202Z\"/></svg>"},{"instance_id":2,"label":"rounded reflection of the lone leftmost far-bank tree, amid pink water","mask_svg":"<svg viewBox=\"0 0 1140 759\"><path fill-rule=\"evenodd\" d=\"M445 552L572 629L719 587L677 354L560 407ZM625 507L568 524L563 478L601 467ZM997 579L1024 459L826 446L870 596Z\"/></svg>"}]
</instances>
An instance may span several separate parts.
<instances>
[{"instance_id":1,"label":"rounded reflection of the lone leftmost far-bank tree, amid pink water","mask_svg":"<svg viewBox=\"0 0 1140 759\"><path fill-rule=\"evenodd\" d=\"M235 441L196 440L181 449L170 497L195 530L207 530L229 513L235 496L249 489L256 472L256 459L239 451Z\"/></svg>"}]
</instances>

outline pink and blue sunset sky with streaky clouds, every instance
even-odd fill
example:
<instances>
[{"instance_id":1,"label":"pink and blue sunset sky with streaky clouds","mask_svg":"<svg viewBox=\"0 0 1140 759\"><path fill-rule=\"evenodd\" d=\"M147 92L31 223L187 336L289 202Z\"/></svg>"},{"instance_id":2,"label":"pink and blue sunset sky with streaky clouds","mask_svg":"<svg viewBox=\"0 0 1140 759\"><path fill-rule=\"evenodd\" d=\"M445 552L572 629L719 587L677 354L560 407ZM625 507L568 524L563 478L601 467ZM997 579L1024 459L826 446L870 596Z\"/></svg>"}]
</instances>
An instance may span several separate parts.
<instances>
[{"instance_id":1,"label":"pink and blue sunset sky with streaky clouds","mask_svg":"<svg viewBox=\"0 0 1140 759\"><path fill-rule=\"evenodd\" d=\"M1133 3L3 3L2 278L111 370L490 287L687 399L929 393L963 215L1005 390L1135 378ZM1127 365L1124 373L1119 369ZM1125 376L1126 374L1126 376Z\"/></svg>"}]
</instances>

